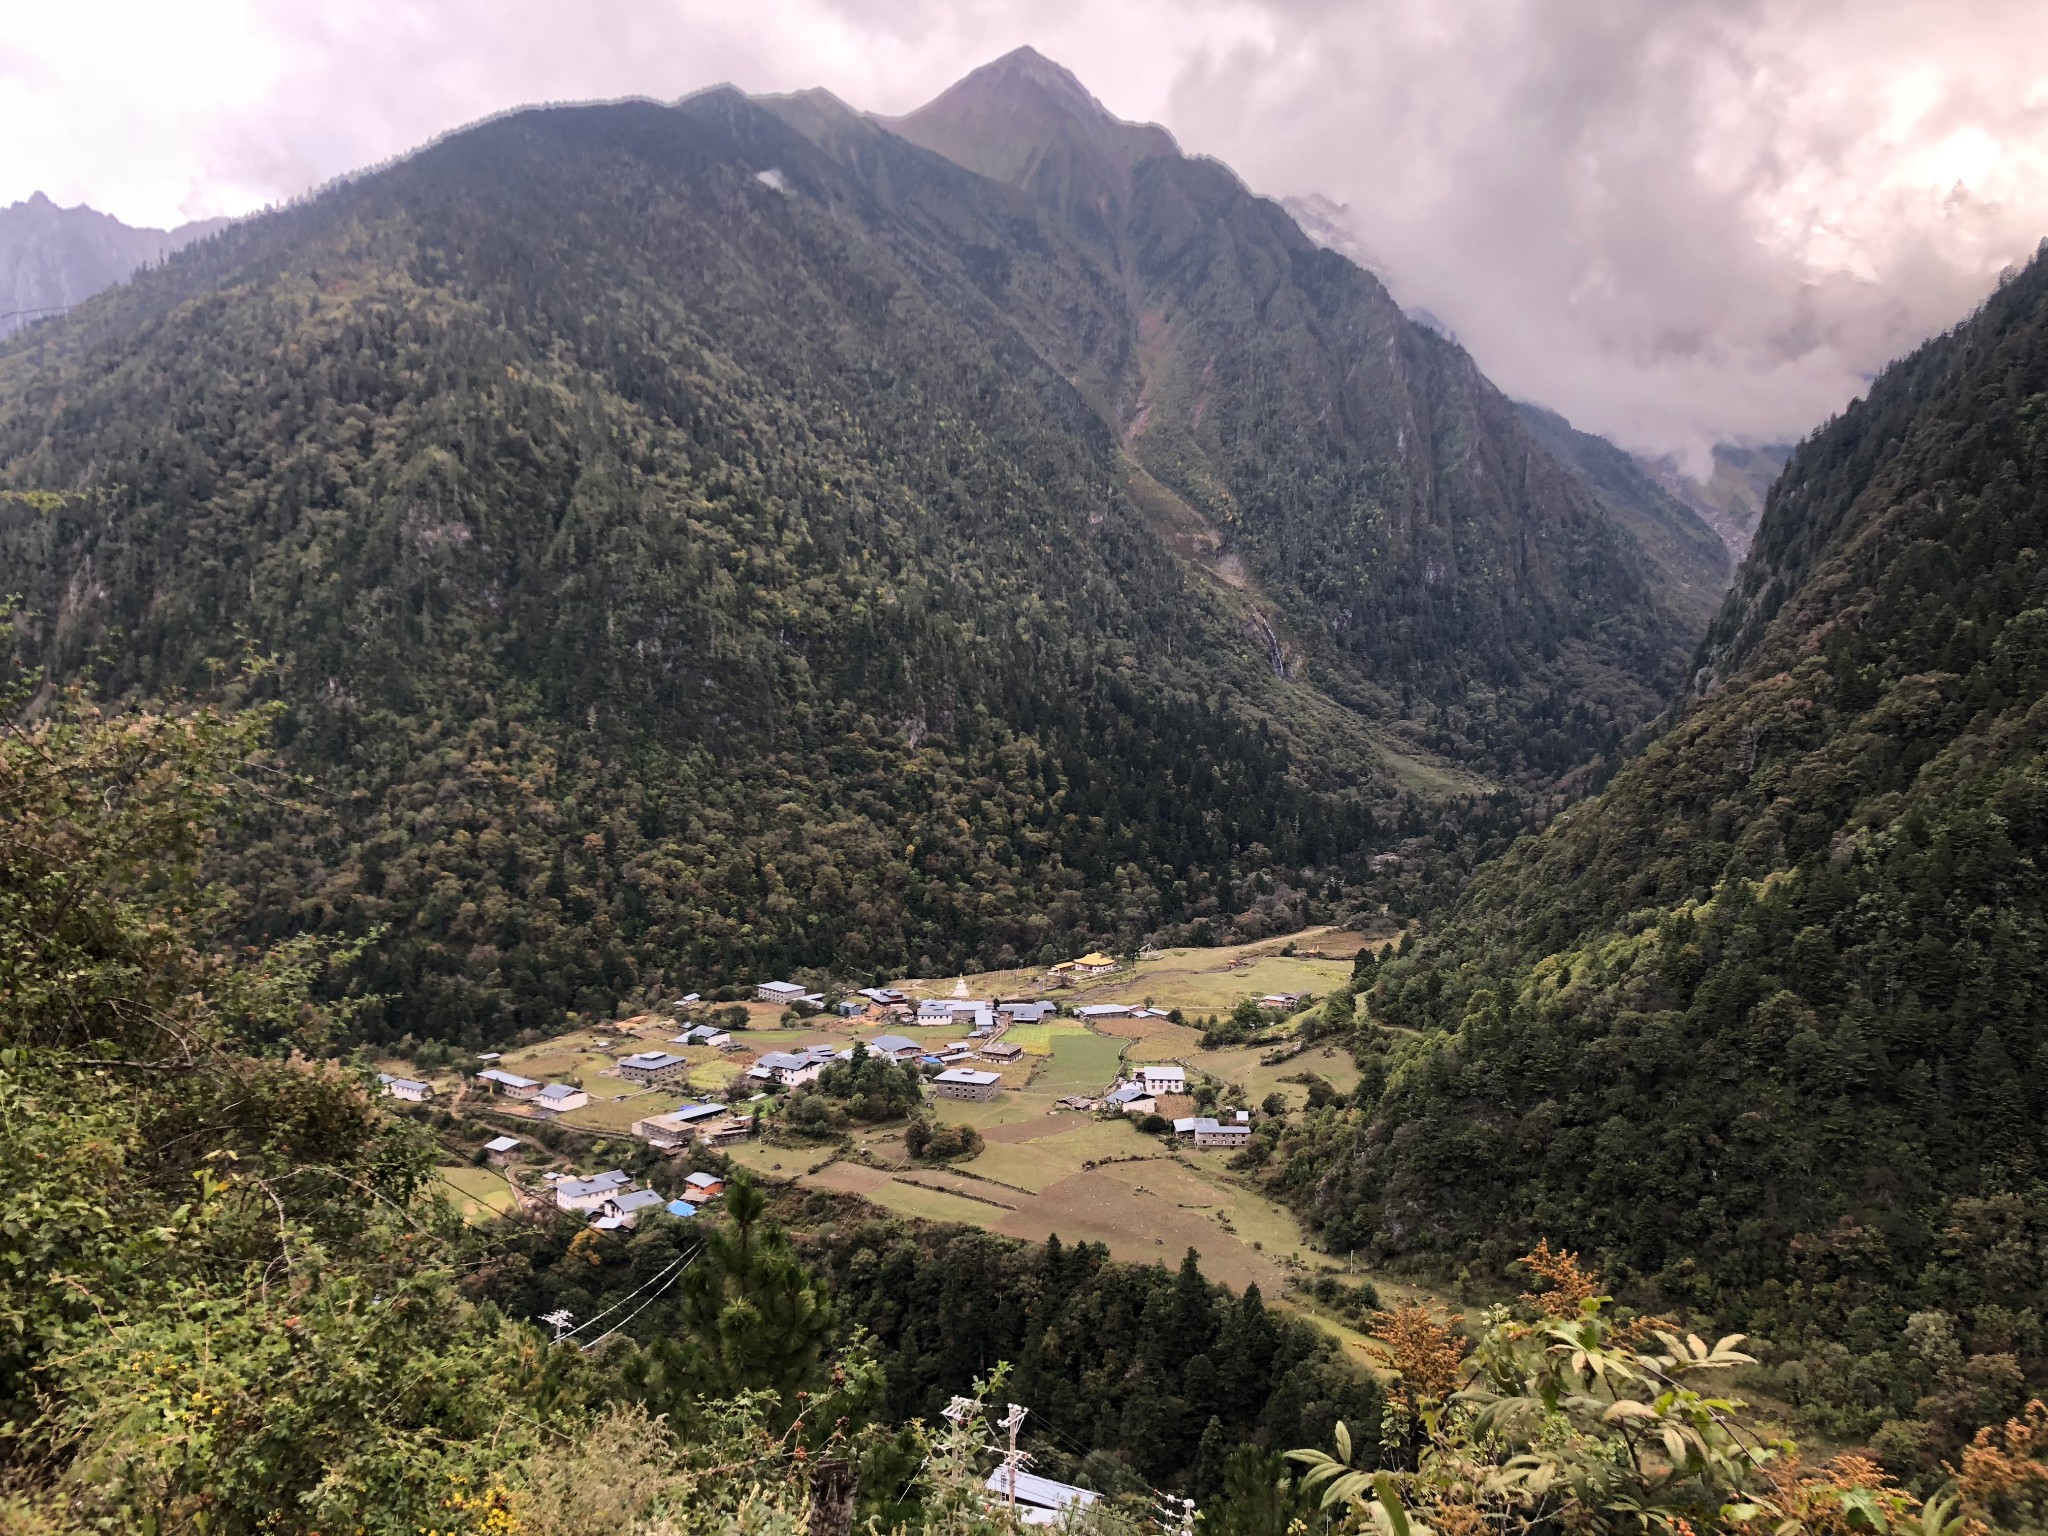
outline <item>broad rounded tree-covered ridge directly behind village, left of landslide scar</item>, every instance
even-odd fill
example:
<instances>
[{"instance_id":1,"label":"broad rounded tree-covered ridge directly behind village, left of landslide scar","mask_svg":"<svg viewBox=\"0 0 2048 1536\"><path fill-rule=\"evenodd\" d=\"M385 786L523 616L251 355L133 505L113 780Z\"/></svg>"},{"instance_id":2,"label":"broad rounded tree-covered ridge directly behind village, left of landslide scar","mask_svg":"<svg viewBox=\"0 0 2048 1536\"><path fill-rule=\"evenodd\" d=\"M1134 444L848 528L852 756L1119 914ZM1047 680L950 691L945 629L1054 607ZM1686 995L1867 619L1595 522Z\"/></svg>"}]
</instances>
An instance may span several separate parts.
<instances>
[{"instance_id":1,"label":"broad rounded tree-covered ridge directly behind village, left of landslide scar","mask_svg":"<svg viewBox=\"0 0 2048 1536\"><path fill-rule=\"evenodd\" d=\"M1356 887L1401 797L1274 727L1264 643L1118 479L735 92L479 127L0 356L33 659L160 692L276 655L317 811L229 877L270 932L383 928L367 1028L471 1042Z\"/></svg>"}]
</instances>

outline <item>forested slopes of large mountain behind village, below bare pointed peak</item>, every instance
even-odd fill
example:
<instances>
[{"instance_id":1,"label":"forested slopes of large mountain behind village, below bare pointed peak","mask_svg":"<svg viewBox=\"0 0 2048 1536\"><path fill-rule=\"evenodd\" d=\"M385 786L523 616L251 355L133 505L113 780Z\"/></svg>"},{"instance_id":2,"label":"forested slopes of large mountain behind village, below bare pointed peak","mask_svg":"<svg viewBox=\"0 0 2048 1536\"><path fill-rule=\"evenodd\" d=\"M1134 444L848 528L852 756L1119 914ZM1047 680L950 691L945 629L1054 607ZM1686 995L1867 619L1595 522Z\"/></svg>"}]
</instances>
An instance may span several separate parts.
<instances>
[{"instance_id":1,"label":"forested slopes of large mountain behind village, below bare pointed peak","mask_svg":"<svg viewBox=\"0 0 2048 1536\"><path fill-rule=\"evenodd\" d=\"M1462 352L1128 170L1104 244L821 98L459 133L0 352L0 592L113 692L276 657L221 872L373 1034L1427 897L1683 625Z\"/></svg>"}]
</instances>

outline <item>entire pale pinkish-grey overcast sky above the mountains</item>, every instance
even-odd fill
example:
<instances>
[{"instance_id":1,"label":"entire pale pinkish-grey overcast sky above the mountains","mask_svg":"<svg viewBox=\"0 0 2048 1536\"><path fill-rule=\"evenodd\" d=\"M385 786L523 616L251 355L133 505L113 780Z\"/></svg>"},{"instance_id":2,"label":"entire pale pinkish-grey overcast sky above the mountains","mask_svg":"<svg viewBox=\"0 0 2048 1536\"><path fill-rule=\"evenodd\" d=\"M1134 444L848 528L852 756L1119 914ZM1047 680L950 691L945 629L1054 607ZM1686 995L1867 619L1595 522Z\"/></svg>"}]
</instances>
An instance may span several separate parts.
<instances>
[{"instance_id":1,"label":"entire pale pinkish-grey overcast sky above the mountains","mask_svg":"<svg viewBox=\"0 0 2048 1536\"><path fill-rule=\"evenodd\" d=\"M1323 193L1513 395L1638 451L1792 438L2048 233L2042 0L10 0L0 203L246 213L537 100L1018 43Z\"/></svg>"}]
</instances>

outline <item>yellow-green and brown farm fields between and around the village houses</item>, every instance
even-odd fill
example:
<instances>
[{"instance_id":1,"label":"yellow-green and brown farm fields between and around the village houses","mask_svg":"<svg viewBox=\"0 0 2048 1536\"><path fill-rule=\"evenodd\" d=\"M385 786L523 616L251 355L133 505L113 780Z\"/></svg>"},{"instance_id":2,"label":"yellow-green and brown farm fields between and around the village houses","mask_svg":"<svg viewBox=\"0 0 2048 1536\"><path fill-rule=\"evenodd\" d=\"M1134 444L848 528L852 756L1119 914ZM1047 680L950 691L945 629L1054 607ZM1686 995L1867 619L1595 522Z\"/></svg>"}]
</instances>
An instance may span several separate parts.
<instances>
[{"instance_id":1,"label":"yellow-green and brown farm fields between and around the village houses","mask_svg":"<svg viewBox=\"0 0 2048 1536\"><path fill-rule=\"evenodd\" d=\"M1231 948L1161 950L1044 995L1073 1008L1130 1004L1182 1010L1184 1018L1198 1020L1227 1014L1243 997L1327 993L1350 977L1352 956L1362 942L1356 932L1309 930ZM1034 973L989 973L905 979L897 985L911 997L948 997L963 985L977 997L1016 997L1036 991L1042 981ZM547 1118L596 1137L586 1151L602 1163L608 1155L606 1141L629 1135L631 1124L643 1116L702 1098L743 1108L743 1073L762 1053L809 1044L840 1049L883 1032L930 1040L936 1049L963 1032L952 1022L918 1026L901 1018L829 1016L784 1028L780 1008L750 1004L748 1012L750 1028L733 1036L741 1047L737 1051L678 1047L672 1036L680 1026L659 1016L580 1028L508 1051L496 1065L541 1079L573 1075L590 1092L590 1104L559 1116L539 1116L526 1106L487 1102L492 1118L514 1133L522 1120ZM1339 1255L1315 1251L1292 1212L1260 1192L1251 1178L1229 1169L1229 1151L1198 1151L1174 1137L1145 1135L1137 1120L1063 1104L1069 1096L1102 1094L1133 1065L1180 1063L1196 1077L1208 1075L1243 1087L1251 1104L1280 1094L1290 1108L1300 1108L1307 1085L1292 1079L1305 1073L1323 1077L1339 1094L1356 1085L1358 1067L1348 1051L1311 1044L1280 1063L1266 1061L1274 1055L1272 1044L1204 1051L1194 1024L1176 1024L1163 1016L1085 1022L1061 1016L1042 1024L1014 1024L1001 1038L1020 1044L1024 1057L995 1067L1004 1079L995 1100L934 1102L934 1114L942 1122L973 1124L981 1133L983 1151L971 1159L948 1165L913 1163L901 1124L856 1128L844 1143L823 1145L788 1143L770 1135L723 1153L764 1182L850 1194L920 1221L961 1223L1026 1241L1044 1241L1057 1233L1069 1243L1102 1243L1112 1257L1137 1264L1171 1266L1192 1247L1212 1280L1233 1288L1257 1284L1270 1300L1315 1317L1354 1358L1376 1362L1362 1333L1288 1288L1290 1280L1321 1270L1350 1272L1350 1266ZM618 1077L616 1055L655 1047L690 1061L688 1083L637 1087ZM479 1108L459 1077L449 1075L436 1085L467 1100L467 1108ZM1192 1102L1161 1108L1194 1112ZM528 1149L530 1155L541 1151ZM442 1176L451 1186L451 1200L469 1221L506 1210L516 1198L496 1169L449 1167ZM1419 1294L1399 1282L1376 1284L1389 1300Z\"/></svg>"}]
</instances>

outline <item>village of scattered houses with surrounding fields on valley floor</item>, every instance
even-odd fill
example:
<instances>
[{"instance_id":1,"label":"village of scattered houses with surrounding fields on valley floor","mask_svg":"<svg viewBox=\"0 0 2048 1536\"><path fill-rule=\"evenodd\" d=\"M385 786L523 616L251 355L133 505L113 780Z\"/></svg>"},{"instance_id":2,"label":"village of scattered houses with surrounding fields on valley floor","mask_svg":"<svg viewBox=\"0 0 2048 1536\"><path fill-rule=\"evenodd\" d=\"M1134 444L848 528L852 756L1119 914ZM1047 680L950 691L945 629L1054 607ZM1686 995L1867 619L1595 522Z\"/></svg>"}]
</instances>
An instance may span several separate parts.
<instances>
[{"instance_id":1,"label":"village of scattered houses with surrounding fields on valley floor","mask_svg":"<svg viewBox=\"0 0 2048 1536\"><path fill-rule=\"evenodd\" d=\"M1217 1278L1280 1294L1323 1260L1231 1163L1274 1116L1356 1083L1346 1051L1296 1036L1358 946L1311 932L844 995L764 979L438 1073L393 1061L381 1087L496 1130L442 1167L469 1219L553 1208L600 1233L651 1212L688 1221L745 1171L1135 1262L1194 1247ZM1264 1042L1202 1049L1202 1020L1245 1001ZM805 1135L793 1106L856 1057L913 1069L918 1118L956 1130L958 1153L913 1151L909 1118Z\"/></svg>"}]
</instances>

